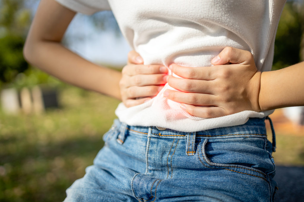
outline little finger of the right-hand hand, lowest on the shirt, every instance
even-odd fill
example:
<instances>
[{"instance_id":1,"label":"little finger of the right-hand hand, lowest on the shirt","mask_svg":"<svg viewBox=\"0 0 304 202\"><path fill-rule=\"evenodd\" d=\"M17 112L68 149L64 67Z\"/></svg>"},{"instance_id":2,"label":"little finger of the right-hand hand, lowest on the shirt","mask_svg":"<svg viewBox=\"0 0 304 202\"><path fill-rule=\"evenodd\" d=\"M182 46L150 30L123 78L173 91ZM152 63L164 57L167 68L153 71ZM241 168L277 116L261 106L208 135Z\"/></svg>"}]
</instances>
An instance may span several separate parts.
<instances>
[{"instance_id":1,"label":"little finger of the right-hand hand, lowest on the shirt","mask_svg":"<svg viewBox=\"0 0 304 202\"><path fill-rule=\"evenodd\" d=\"M226 116L225 110L220 107L197 107L191 104L181 104L181 108L192 116L201 118L216 118Z\"/></svg>"}]
</instances>

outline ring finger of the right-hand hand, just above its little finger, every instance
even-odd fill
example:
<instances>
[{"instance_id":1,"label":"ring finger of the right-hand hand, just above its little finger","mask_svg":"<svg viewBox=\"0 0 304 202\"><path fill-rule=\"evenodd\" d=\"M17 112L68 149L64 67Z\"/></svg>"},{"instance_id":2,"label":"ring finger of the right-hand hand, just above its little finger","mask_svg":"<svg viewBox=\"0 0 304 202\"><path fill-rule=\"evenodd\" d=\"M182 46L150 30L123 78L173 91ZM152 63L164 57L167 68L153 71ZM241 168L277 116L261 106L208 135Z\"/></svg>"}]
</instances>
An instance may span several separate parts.
<instances>
[{"instance_id":1,"label":"ring finger of the right-hand hand, just above its little finger","mask_svg":"<svg viewBox=\"0 0 304 202\"><path fill-rule=\"evenodd\" d=\"M216 95L204 93L185 93L179 91L166 90L164 91L164 97L176 102L200 106L216 106L217 103Z\"/></svg>"}]
</instances>

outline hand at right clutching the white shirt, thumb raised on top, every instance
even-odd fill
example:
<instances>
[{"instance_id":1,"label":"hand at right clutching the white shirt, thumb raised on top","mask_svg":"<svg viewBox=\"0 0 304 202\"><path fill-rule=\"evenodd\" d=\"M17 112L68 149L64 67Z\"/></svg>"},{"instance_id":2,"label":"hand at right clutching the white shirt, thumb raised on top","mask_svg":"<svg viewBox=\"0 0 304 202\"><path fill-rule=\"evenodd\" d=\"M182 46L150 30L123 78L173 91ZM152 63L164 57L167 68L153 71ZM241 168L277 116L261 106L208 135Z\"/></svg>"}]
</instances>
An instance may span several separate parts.
<instances>
[{"instance_id":1,"label":"hand at right clutching the white shirt, thumb raised on top","mask_svg":"<svg viewBox=\"0 0 304 202\"><path fill-rule=\"evenodd\" d=\"M182 92L166 90L164 96L184 103L182 109L202 118L261 111L261 72L249 51L226 47L211 62L215 66L190 68L171 64L172 72L182 78L169 76L168 84Z\"/></svg>"}]
</instances>

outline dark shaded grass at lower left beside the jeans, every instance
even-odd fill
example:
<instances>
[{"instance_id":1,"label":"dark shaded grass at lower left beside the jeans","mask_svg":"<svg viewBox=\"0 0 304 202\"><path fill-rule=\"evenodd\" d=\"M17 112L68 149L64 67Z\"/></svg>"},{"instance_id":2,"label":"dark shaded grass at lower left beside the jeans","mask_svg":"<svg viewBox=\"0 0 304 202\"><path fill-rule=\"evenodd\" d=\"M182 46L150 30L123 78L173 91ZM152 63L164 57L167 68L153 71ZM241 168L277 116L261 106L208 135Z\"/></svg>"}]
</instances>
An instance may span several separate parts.
<instances>
[{"instance_id":1,"label":"dark shaded grass at lower left beside the jeans","mask_svg":"<svg viewBox=\"0 0 304 202\"><path fill-rule=\"evenodd\" d=\"M1 142L7 150L0 153L0 201L45 202L63 201L65 190L83 177L104 144L102 135L40 145L22 138Z\"/></svg>"}]
</instances>

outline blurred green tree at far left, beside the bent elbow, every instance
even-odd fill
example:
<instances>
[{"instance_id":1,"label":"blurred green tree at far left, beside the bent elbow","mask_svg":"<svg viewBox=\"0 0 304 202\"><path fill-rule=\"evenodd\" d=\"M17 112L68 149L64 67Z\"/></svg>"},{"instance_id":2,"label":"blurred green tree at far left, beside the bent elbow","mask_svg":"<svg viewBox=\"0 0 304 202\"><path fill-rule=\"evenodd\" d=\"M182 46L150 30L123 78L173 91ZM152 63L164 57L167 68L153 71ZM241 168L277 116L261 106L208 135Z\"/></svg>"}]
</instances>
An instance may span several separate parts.
<instances>
[{"instance_id":1,"label":"blurred green tree at far left, beside the bent elbow","mask_svg":"<svg viewBox=\"0 0 304 202\"><path fill-rule=\"evenodd\" d=\"M31 10L23 0L0 0L0 81L12 81L29 68L22 47L29 29Z\"/></svg>"}]
</instances>

